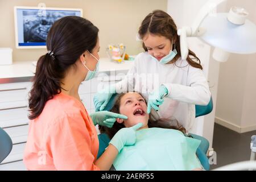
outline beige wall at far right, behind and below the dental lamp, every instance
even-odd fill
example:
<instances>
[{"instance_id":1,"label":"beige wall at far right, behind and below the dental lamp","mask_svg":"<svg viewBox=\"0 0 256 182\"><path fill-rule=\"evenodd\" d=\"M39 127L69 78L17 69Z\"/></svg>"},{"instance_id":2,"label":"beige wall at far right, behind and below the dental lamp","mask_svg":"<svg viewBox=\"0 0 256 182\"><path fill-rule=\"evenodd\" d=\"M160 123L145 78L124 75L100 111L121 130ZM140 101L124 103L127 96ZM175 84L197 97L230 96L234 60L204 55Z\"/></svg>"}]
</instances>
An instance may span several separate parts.
<instances>
[{"instance_id":1,"label":"beige wall at far right, behind and below the dental lamp","mask_svg":"<svg viewBox=\"0 0 256 182\"><path fill-rule=\"evenodd\" d=\"M256 23L255 0L232 0L227 6L245 8L249 11L248 19ZM226 63L220 64L216 122L238 133L256 130L255 68L255 53L232 54Z\"/></svg>"}]
</instances>

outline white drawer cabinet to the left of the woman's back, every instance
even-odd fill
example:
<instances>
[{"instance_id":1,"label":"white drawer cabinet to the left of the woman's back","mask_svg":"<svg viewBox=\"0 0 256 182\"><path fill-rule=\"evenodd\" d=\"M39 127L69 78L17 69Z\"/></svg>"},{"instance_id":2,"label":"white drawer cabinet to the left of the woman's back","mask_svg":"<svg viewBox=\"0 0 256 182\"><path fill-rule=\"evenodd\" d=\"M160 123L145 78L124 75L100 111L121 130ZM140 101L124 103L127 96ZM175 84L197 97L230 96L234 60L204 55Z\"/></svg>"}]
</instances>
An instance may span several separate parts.
<instances>
[{"instance_id":1,"label":"white drawer cabinet to the left of the woman's back","mask_svg":"<svg viewBox=\"0 0 256 182\"><path fill-rule=\"evenodd\" d=\"M28 92L31 82L0 84L0 127L13 140L11 153L0 164L0 170L26 169L22 162L28 134Z\"/></svg>"}]
</instances>

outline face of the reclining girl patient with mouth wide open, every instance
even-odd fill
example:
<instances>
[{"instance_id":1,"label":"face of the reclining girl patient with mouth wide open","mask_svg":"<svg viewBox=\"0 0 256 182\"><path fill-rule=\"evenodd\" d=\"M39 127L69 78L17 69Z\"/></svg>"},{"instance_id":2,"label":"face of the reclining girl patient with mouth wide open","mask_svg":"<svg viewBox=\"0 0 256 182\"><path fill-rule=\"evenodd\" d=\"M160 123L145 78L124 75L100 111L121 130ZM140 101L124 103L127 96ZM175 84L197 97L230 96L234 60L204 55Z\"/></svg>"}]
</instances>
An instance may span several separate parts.
<instances>
[{"instance_id":1,"label":"face of the reclining girl patient with mouth wide open","mask_svg":"<svg viewBox=\"0 0 256 182\"><path fill-rule=\"evenodd\" d=\"M126 127L131 127L137 123L143 123L142 128L147 128L149 115L144 98L139 93L129 92L122 96L120 100L120 114L124 114L128 119L123 119ZM141 129L142 129L141 128Z\"/></svg>"}]
</instances>

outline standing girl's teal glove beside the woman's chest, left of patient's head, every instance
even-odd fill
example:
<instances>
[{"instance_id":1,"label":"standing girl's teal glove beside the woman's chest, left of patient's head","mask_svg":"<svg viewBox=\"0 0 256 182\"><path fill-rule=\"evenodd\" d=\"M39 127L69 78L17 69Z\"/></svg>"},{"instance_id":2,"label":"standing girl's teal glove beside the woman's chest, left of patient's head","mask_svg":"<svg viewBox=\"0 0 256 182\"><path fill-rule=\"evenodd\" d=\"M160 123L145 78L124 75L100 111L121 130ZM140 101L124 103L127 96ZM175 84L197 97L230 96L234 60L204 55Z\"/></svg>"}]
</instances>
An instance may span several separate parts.
<instances>
[{"instance_id":1,"label":"standing girl's teal glove beside the woman's chest, left of patient's head","mask_svg":"<svg viewBox=\"0 0 256 182\"><path fill-rule=\"evenodd\" d=\"M93 97L93 104L96 111L102 111L108 104L112 95L115 94L115 86L110 85L108 88L97 92Z\"/></svg>"}]
</instances>

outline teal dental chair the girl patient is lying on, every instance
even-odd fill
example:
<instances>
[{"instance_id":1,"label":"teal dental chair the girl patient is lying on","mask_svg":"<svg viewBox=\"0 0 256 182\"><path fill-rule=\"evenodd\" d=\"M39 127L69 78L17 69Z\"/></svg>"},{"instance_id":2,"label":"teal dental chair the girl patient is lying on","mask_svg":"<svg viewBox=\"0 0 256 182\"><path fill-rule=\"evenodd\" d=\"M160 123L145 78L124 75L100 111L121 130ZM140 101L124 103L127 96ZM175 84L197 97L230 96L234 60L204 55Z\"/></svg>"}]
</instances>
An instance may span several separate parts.
<instances>
[{"instance_id":1,"label":"teal dental chair the girl patient is lying on","mask_svg":"<svg viewBox=\"0 0 256 182\"><path fill-rule=\"evenodd\" d=\"M112 98L110 98L109 103L106 105L104 110L112 109L114 102L116 100L117 94L114 94ZM209 114L213 109L212 97L210 98L209 104L206 106L196 105L196 117L200 117L202 115ZM197 148L196 155L199 158L201 165L204 167L205 170L209 171L210 164L207 157L207 151L209 148L209 142L204 137L195 134L189 134L192 138L201 140L200 146ZM98 150L97 158L101 156L101 154L105 151L105 148L108 147L110 139L107 134L102 133L98 135L100 147Z\"/></svg>"}]
</instances>

